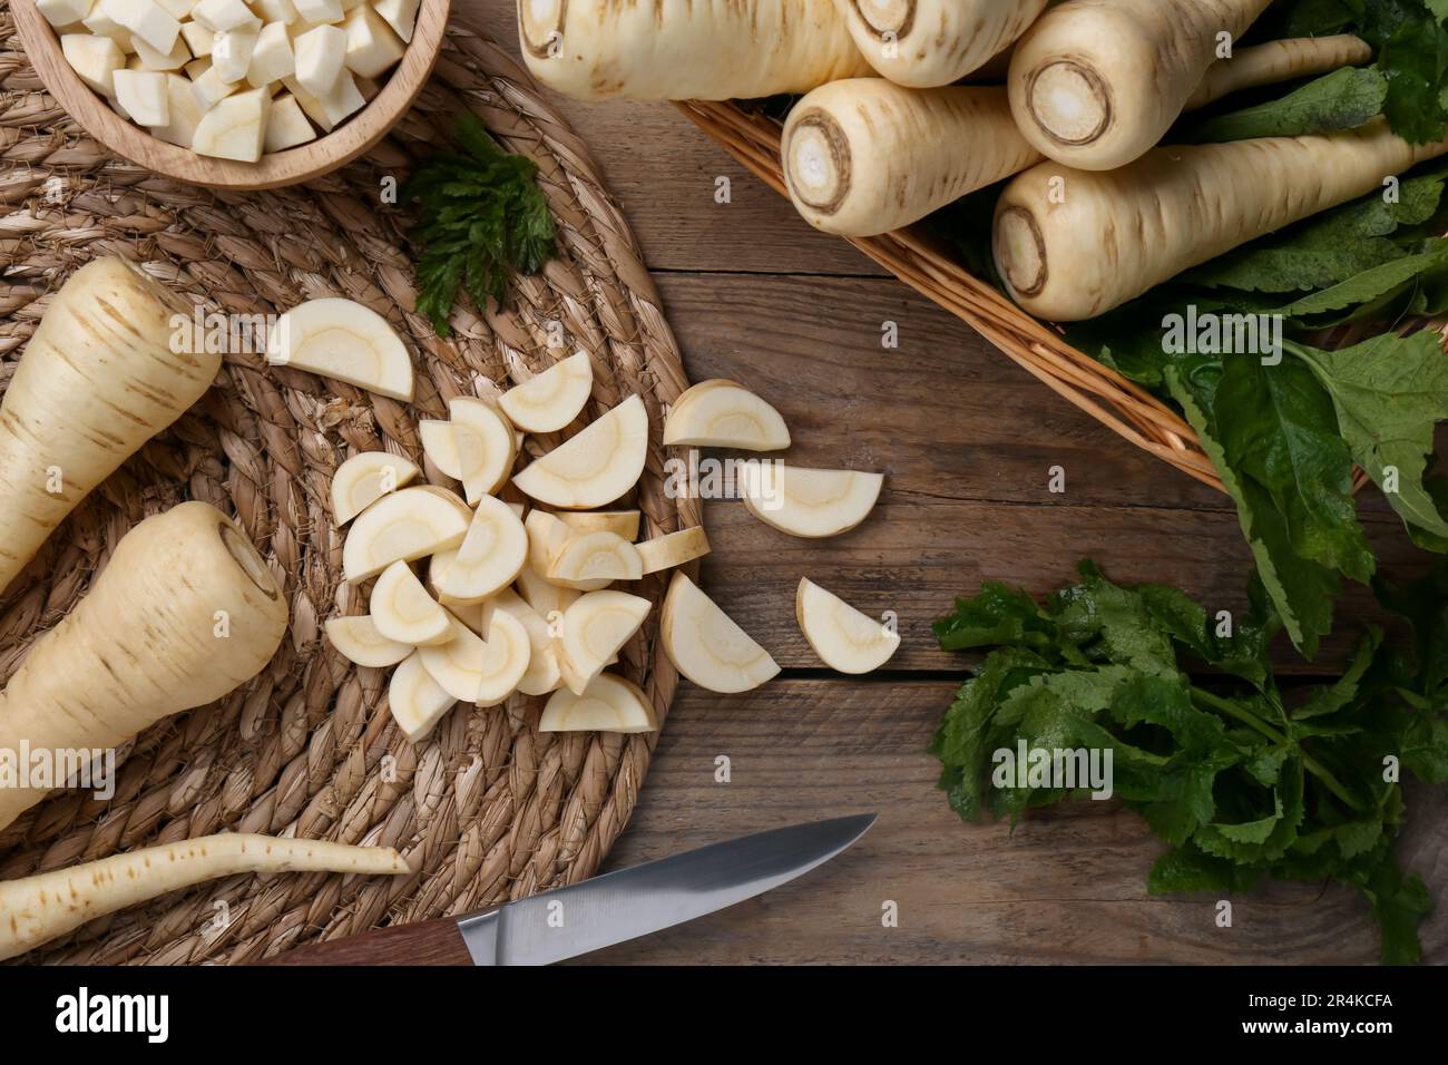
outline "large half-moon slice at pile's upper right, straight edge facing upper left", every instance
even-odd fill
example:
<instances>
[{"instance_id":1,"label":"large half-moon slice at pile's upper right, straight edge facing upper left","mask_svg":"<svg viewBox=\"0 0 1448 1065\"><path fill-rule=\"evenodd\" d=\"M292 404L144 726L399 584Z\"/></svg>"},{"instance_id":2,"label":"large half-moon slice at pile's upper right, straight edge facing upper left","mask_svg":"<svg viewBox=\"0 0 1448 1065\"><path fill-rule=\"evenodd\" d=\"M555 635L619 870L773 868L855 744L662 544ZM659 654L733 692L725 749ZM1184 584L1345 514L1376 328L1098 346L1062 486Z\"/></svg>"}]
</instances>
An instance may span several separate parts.
<instances>
[{"instance_id":1,"label":"large half-moon slice at pile's upper right, straight edge facing upper left","mask_svg":"<svg viewBox=\"0 0 1448 1065\"><path fill-rule=\"evenodd\" d=\"M630 396L513 478L521 491L555 507L589 510L634 487L649 452L649 412Z\"/></svg>"}]
</instances>

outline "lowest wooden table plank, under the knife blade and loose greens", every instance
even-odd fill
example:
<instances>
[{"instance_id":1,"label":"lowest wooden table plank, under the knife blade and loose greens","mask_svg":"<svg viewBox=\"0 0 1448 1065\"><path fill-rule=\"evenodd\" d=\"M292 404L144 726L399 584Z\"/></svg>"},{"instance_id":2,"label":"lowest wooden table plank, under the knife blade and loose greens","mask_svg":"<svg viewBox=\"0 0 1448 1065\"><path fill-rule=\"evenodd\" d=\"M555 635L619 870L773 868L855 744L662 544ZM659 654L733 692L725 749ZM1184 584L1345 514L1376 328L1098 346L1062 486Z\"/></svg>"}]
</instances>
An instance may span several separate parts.
<instances>
[{"instance_id":1,"label":"lowest wooden table plank, under the knife blade and loose greens","mask_svg":"<svg viewBox=\"0 0 1448 1065\"><path fill-rule=\"evenodd\" d=\"M649 787L607 868L821 817L880 820L820 869L686 926L589 955L594 964L1368 964L1377 932L1355 893L1271 884L1232 900L1153 897L1160 852L1114 801L963 824L935 790L925 745L954 682L778 681L749 696L681 690ZM715 759L731 781L715 782ZM1409 788L1399 858L1442 897L1448 795ZM899 927L883 927L895 901ZM1448 907L1422 927L1425 961L1448 961Z\"/></svg>"}]
</instances>

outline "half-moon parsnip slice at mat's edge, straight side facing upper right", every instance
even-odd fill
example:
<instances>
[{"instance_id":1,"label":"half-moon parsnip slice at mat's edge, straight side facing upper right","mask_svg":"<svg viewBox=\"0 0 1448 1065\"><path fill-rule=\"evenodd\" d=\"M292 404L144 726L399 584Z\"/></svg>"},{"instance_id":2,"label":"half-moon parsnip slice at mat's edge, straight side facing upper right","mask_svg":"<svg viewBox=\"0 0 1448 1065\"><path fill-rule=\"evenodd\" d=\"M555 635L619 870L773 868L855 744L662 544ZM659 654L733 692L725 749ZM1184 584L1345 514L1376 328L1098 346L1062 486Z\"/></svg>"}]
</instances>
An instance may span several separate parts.
<instances>
[{"instance_id":1,"label":"half-moon parsnip slice at mat's edge, straight side facing upper right","mask_svg":"<svg viewBox=\"0 0 1448 1065\"><path fill-rule=\"evenodd\" d=\"M660 639L675 668L708 691L749 691L779 672L769 652L679 572L663 597Z\"/></svg>"}]
</instances>

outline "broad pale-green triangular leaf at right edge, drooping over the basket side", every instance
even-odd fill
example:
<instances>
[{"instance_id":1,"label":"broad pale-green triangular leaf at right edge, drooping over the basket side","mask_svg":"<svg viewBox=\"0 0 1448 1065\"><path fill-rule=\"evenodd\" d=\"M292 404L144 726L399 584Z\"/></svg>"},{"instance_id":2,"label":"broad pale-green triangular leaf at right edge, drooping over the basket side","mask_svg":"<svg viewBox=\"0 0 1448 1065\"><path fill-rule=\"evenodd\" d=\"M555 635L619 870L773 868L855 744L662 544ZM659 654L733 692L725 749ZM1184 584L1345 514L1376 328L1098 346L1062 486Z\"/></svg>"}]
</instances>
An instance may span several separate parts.
<instances>
[{"instance_id":1,"label":"broad pale-green triangular leaf at right edge, drooping over the basket side","mask_svg":"<svg viewBox=\"0 0 1448 1065\"><path fill-rule=\"evenodd\" d=\"M1423 483L1434 427L1448 419L1448 356L1438 333L1387 333L1339 351L1293 345L1292 352L1328 390L1352 459L1386 490L1393 510L1413 527L1448 536Z\"/></svg>"}]
</instances>

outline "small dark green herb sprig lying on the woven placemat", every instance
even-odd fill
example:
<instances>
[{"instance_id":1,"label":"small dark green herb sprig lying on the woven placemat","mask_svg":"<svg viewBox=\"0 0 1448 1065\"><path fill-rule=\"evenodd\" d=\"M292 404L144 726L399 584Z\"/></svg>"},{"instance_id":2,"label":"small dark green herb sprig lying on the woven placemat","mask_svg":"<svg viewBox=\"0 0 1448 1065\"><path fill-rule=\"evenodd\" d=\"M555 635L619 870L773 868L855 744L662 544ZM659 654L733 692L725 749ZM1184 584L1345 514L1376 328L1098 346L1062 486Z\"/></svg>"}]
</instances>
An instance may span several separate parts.
<instances>
[{"instance_id":1,"label":"small dark green herb sprig lying on the woven placemat","mask_svg":"<svg viewBox=\"0 0 1448 1065\"><path fill-rule=\"evenodd\" d=\"M458 288L478 307L504 303L514 272L536 274L555 252L553 216L537 165L504 152L472 112L458 119L458 151L424 162L403 187L417 204L417 310L447 336Z\"/></svg>"}]
</instances>

